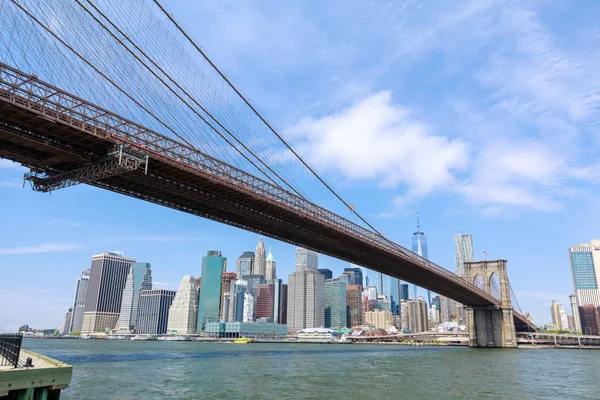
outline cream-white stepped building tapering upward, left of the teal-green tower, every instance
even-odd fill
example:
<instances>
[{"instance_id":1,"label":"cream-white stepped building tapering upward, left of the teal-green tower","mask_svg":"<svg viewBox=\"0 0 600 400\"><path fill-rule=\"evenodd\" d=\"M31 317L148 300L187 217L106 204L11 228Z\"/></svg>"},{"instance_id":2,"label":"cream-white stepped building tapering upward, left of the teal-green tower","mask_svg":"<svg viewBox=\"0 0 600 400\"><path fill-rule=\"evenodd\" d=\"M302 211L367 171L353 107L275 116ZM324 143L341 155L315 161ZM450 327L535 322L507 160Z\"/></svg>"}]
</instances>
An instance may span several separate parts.
<instances>
[{"instance_id":1,"label":"cream-white stepped building tapering upward, left of the teal-green tower","mask_svg":"<svg viewBox=\"0 0 600 400\"><path fill-rule=\"evenodd\" d=\"M169 308L167 333L191 335L198 321L198 291L193 276L184 276Z\"/></svg>"}]
</instances>

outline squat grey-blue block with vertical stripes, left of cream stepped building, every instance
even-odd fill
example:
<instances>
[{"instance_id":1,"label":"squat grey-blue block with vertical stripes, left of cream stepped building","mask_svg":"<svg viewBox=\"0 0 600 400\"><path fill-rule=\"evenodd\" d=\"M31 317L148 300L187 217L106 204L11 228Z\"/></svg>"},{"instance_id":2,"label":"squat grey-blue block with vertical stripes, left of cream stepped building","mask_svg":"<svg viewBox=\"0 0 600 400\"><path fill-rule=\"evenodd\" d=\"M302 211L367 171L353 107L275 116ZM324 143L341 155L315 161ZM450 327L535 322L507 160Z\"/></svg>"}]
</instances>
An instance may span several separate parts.
<instances>
[{"instance_id":1,"label":"squat grey-blue block with vertical stripes, left of cream stepped building","mask_svg":"<svg viewBox=\"0 0 600 400\"><path fill-rule=\"evenodd\" d=\"M175 295L174 290L140 290L136 332L147 335L167 333L169 309Z\"/></svg>"}]
</instances>

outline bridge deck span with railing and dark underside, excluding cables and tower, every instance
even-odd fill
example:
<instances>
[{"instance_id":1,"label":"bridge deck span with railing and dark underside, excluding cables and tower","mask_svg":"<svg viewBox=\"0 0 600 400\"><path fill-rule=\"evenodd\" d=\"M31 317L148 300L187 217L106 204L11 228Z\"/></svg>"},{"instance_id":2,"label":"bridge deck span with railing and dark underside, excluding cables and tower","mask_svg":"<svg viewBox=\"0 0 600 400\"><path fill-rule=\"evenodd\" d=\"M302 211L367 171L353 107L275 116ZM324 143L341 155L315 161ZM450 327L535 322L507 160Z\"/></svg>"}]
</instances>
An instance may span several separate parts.
<instances>
[{"instance_id":1,"label":"bridge deck span with railing and dark underside, excluding cables and tower","mask_svg":"<svg viewBox=\"0 0 600 400\"><path fill-rule=\"evenodd\" d=\"M0 63L0 157L35 190L77 183L257 232L462 304L500 301L463 278L279 186ZM517 330L533 328L514 312Z\"/></svg>"}]
</instances>

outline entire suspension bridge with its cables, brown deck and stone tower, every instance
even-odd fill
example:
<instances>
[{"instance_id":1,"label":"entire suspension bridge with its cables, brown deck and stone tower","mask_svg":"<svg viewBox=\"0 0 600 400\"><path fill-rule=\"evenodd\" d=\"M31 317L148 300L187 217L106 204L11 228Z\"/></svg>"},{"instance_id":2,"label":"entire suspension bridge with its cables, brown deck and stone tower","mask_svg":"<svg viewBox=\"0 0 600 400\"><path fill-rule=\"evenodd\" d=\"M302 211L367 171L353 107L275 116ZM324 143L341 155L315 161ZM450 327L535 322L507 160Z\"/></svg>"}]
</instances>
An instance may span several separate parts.
<instances>
[{"instance_id":1,"label":"entire suspension bridge with its cables, brown deck and stone tower","mask_svg":"<svg viewBox=\"0 0 600 400\"><path fill-rule=\"evenodd\" d=\"M475 347L533 329L506 261L457 276L388 240L160 2L113 3L0 1L0 157L33 190L91 185L411 282L466 306Z\"/></svg>"}]
</instances>

